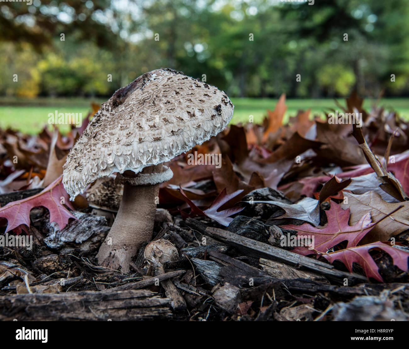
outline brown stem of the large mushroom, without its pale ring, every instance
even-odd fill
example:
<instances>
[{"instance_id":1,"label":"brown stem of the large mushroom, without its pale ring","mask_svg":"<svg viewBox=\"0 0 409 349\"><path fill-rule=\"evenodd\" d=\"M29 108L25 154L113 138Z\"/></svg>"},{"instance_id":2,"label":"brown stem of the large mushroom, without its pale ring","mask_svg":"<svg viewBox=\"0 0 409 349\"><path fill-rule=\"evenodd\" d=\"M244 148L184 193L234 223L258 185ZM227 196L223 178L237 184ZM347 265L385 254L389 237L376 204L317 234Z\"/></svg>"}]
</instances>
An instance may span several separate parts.
<instances>
[{"instance_id":1,"label":"brown stem of the large mushroom, without its pale ring","mask_svg":"<svg viewBox=\"0 0 409 349\"><path fill-rule=\"evenodd\" d=\"M142 173L160 172L162 164L142 170ZM129 176L128 173L126 175ZM131 258L135 256L143 242L152 238L155 198L159 195L159 186L124 184L124 195L117 216L97 254L99 265L112 269L121 268L125 273L129 271Z\"/></svg>"}]
</instances>

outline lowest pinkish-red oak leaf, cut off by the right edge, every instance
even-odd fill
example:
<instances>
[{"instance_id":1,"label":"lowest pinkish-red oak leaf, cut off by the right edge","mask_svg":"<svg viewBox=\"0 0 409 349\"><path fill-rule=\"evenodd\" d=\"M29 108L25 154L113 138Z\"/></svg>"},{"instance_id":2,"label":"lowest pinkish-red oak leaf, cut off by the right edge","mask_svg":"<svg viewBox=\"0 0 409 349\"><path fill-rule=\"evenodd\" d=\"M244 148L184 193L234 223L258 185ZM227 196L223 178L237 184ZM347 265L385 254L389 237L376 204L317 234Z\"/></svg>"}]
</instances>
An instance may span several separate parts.
<instances>
[{"instance_id":1,"label":"lowest pinkish-red oak leaf, cut off by the right edge","mask_svg":"<svg viewBox=\"0 0 409 349\"><path fill-rule=\"evenodd\" d=\"M326 258L331 264L334 262L334 260L339 259L351 272L352 264L353 262L356 262L364 269L365 274L368 278L374 278L382 282L382 277L378 272L379 268L369 254L369 250L371 249L381 249L385 251L392 257L393 265L396 265L403 271L408 270L409 253L403 251L402 249L399 249L398 247L392 247L391 245L389 245L389 243L384 243L381 241L328 253L324 255L324 258Z\"/></svg>"}]
</instances>

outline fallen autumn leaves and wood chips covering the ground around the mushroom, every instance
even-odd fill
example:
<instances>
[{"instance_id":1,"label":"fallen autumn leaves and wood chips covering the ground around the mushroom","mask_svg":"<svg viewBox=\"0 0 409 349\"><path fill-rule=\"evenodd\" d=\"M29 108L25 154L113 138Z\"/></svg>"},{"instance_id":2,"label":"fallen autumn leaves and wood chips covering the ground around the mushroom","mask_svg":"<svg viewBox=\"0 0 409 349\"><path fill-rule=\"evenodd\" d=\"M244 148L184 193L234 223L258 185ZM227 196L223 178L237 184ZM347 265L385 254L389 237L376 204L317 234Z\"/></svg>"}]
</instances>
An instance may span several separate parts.
<instances>
[{"instance_id":1,"label":"fallen autumn leaves and wood chips covering the ground around the mushroom","mask_svg":"<svg viewBox=\"0 0 409 349\"><path fill-rule=\"evenodd\" d=\"M231 125L171 160L153 239L179 251L164 265L186 302L176 311L169 300L173 319L333 320L335 309L385 292L396 318L409 313L408 122L380 107L364 110L356 93L338 105L362 113L362 127L310 110L283 124L283 95L261 124ZM143 249L128 274L97 265L115 208L102 217L85 194L71 205L61 185L63 159L97 109L65 135L0 130L1 236L32 239L31 249L0 244L0 298L26 287L28 275L28 287L65 280L37 292L142 288L168 299L149 283ZM189 164L195 151L220 154L222 166ZM283 244L304 236L314 246Z\"/></svg>"}]
</instances>

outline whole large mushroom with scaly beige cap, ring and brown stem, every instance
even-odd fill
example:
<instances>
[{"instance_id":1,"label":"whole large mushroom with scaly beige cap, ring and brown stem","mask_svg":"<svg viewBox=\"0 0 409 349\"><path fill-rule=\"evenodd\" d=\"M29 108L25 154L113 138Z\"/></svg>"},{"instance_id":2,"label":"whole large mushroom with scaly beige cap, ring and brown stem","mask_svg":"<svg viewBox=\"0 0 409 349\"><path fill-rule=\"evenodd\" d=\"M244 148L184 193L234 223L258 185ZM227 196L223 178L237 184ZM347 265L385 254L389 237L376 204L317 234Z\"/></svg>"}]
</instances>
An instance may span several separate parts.
<instances>
[{"instance_id":1,"label":"whole large mushroom with scaly beige cap, ring and brown stem","mask_svg":"<svg viewBox=\"0 0 409 349\"><path fill-rule=\"evenodd\" d=\"M97 254L100 265L129 270L130 259L152 238L159 185L173 176L162 164L222 131L233 109L223 91L172 69L145 73L102 104L63 171L70 200L114 172L124 184L118 214Z\"/></svg>"}]
</instances>

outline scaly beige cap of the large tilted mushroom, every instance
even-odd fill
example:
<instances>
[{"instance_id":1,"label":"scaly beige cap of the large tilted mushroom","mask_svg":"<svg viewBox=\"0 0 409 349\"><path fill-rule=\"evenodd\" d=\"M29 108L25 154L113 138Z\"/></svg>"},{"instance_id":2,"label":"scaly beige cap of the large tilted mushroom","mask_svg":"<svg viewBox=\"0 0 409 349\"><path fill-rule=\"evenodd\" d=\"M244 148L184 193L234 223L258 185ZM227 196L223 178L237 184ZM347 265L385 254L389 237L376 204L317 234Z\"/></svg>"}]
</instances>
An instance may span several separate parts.
<instances>
[{"instance_id":1,"label":"scaly beige cap of the large tilted mushroom","mask_svg":"<svg viewBox=\"0 0 409 349\"><path fill-rule=\"evenodd\" d=\"M73 200L113 172L138 173L216 136L234 106L226 93L171 69L145 73L94 115L64 164L63 185Z\"/></svg>"}]
</instances>

